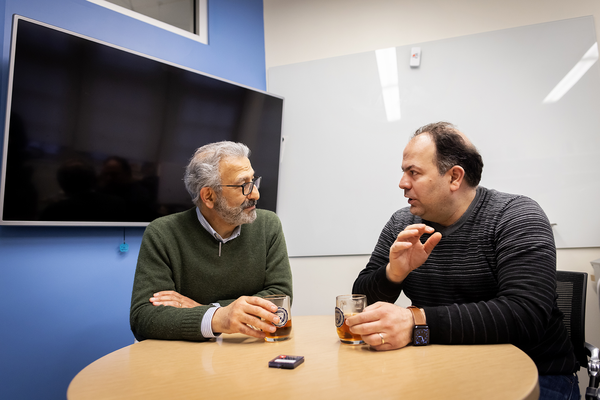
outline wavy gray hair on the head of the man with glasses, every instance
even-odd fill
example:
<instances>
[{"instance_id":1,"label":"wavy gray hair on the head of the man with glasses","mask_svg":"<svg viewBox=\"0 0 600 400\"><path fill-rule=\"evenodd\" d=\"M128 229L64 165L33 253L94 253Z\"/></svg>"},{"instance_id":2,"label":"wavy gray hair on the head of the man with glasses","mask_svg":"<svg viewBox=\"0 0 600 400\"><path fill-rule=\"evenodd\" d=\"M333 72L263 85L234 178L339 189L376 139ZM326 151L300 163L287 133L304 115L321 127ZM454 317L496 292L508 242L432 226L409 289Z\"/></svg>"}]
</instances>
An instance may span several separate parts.
<instances>
[{"instance_id":1,"label":"wavy gray hair on the head of the man with glasses","mask_svg":"<svg viewBox=\"0 0 600 400\"><path fill-rule=\"evenodd\" d=\"M190 158L190 163L185 168L185 188L190 193L191 201L198 205L200 190L205 187L212 188L221 194L221 175L219 163L221 160L248 157L250 149L244 143L217 142L209 143L196 149Z\"/></svg>"}]
</instances>

